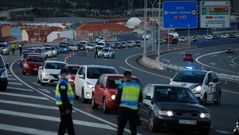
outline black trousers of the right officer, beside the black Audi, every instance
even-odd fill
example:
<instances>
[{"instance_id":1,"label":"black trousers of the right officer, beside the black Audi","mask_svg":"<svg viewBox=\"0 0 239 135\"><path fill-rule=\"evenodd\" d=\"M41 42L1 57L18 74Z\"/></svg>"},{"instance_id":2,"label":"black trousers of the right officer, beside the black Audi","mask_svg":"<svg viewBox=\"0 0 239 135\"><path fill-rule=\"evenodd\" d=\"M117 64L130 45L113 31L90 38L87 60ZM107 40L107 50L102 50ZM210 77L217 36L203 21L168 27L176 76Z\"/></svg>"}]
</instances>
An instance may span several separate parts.
<instances>
[{"instance_id":1,"label":"black trousers of the right officer, beside the black Audi","mask_svg":"<svg viewBox=\"0 0 239 135\"><path fill-rule=\"evenodd\" d=\"M129 122L131 135L137 134L138 111L130 110L127 108L120 108L118 114L118 133L117 135L124 134L125 125Z\"/></svg>"}]
</instances>

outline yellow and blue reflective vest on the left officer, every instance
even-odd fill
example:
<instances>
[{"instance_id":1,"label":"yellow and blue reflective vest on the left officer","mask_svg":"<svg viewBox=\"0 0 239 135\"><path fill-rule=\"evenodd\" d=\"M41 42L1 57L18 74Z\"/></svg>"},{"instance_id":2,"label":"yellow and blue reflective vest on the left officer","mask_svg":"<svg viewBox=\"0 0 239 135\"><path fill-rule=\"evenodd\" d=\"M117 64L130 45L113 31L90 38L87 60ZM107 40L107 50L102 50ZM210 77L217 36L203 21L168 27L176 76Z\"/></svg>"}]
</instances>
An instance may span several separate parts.
<instances>
[{"instance_id":1,"label":"yellow and blue reflective vest on the left officer","mask_svg":"<svg viewBox=\"0 0 239 135\"><path fill-rule=\"evenodd\" d=\"M72 90L72 87L70 85L69 82L67 82L66 80L59 80L59 83L57 84L56 86L56 93L55 93L55 100L56 100L56 104L57 105L62 105L62 100L61 100L61 93L60 93L60 89L59 89L59 85L61 83L65 83L67 85L67 97L68 97L68 101L73 104L73 101L74 101L74 93L73 93L73 90Z\"/></svg>"}]
</instances>

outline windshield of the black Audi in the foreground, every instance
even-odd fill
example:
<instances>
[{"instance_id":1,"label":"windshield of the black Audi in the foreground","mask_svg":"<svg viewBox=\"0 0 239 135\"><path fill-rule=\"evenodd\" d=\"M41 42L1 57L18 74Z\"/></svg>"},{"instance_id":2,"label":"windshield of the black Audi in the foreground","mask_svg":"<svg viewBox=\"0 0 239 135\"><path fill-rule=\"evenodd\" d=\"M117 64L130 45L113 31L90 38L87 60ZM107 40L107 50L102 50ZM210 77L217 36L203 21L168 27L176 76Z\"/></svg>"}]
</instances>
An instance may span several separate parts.
<instances>
[{"instance_id":1,"label":"windshield of the black Audi in the foreground","mask_svg":"<svg viewBox=\"0 0 239 135\"><path fill-rule=\"evenodd\" d=\"M155 86L154 90L155 101L192 104L198 103L194 94L187 88Z\"/></svg>"}]
</instances>

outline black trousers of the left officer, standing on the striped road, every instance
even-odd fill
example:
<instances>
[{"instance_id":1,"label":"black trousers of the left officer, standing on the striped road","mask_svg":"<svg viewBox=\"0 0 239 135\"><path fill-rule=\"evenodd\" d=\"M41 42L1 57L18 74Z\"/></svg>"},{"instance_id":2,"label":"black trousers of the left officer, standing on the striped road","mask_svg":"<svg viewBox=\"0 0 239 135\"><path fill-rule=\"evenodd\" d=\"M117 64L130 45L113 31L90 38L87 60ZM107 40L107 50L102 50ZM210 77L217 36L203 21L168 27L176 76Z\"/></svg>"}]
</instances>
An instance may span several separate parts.
<instances>
[{"instance_id":1,"label":"black trousers of the left officer, standing on the striped road","mask_svg":"<svg viewBox=\"0 0 239 135\"><path fill-rule=\"evenodd\" d=\"M61 113L61 122L58 130L58 135L64 135L66 129L68 131L68 135L75 135L71 113Z\"/></svg>"}]
</instances>

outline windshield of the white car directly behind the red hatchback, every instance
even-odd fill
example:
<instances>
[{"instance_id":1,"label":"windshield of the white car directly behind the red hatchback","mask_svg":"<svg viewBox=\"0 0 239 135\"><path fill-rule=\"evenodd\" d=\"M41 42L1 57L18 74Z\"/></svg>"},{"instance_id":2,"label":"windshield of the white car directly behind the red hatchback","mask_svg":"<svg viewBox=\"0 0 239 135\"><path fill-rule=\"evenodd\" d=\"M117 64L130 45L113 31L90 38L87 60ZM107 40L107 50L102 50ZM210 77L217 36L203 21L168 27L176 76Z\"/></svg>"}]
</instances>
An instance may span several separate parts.
<instances>
[{"instance_id":1,"label":"windshield of the white car directly behind the red hatchback","mask_svg":"<svg viewBox=\"0 0 239 135\"><path fill-rule=\"evenodd\" d=\"M97 67L89 67L87 70L87 78L89 79L98 79L102 74L116 74L116 71L113 68Z\"/></svg>"}]
</instances>

